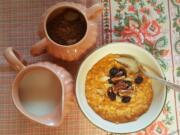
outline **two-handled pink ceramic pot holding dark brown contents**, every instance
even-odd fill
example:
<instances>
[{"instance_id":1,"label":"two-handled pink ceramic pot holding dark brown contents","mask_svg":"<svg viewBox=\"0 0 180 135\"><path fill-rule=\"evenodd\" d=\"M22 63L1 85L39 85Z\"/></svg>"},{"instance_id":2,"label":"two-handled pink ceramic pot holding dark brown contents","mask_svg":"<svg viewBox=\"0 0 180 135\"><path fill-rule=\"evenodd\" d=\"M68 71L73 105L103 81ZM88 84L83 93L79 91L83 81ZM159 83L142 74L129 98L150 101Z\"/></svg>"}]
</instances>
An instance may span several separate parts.
<instances>
[{"instance_id":1,"label":"two-handled pink ceramic pot holding dark brown contents","mask_svg":"<svg viewBox=\"0 0 180 135\"><path fill-rule=\"evenodd\" d=\"M52 20L51 18L54 18L54 16L59 14L59 12L62 12L65 8L76 10L86 21L86 32L84 36L80 41L68 46L52 40L47 30L47 24ZM38 56L48 52L52 56L66 61L78 60L95 44L98 34L96 19L102 13L102 10L103 6L100 3L97 3L90 8L86 8L81 4L73 2L60 2L50 7L43 15L39 28L39 36L42 37L42 40L32 46L31 54L33 56Z\"/></svg>"}]
</instances>

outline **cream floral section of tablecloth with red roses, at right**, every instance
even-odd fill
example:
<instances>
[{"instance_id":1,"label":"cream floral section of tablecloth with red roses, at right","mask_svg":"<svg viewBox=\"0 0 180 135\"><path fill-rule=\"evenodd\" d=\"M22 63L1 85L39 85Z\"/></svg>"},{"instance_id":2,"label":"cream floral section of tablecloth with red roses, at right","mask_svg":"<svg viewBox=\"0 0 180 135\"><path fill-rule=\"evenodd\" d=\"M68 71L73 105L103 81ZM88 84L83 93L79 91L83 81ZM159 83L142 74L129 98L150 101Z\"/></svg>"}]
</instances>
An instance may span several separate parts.
<instances>
[{"instance_id":1,"label":"cream floral section of tablecloth with red roses, at right","mask_svg":"<svg viewBox=\"0 0 180 135\"><path fill-rule=\"evenodd\" d=\"M167 80L180 84L180 1L102 0L104 41L132 42L157 59ZM180 93L168 90L159 118L133 135L180 134Z\"/></svg>"}]
</instances>

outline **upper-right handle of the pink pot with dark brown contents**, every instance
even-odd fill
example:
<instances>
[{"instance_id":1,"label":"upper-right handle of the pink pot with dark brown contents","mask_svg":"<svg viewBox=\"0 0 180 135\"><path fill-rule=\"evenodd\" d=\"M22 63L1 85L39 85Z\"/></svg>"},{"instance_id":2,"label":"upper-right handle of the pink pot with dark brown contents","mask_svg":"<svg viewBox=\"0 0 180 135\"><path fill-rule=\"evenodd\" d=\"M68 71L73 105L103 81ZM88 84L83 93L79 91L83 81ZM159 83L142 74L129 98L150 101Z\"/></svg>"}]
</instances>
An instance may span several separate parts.
<instances>
[{"instance_id":1,"label":"upper-right handle of the pink pot with dark brown contents","mask_svg":"<svg viewBox=\"0 0 180 135\"><path fill-rule=\"evenodd\" d=\"M96 18L102 13L103 7L102 3L97 3L88 8L86 11L87 18L90 20L96 20Z\"/></svg>"}]
</instances>

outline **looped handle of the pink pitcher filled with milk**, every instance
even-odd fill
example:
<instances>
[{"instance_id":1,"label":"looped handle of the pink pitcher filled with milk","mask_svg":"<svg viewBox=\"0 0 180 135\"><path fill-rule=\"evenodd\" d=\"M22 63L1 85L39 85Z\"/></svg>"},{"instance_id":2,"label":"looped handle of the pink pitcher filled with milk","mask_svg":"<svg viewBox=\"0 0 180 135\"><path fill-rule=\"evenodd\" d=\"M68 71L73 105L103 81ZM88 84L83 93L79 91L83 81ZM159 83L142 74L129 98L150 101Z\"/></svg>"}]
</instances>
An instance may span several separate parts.
<instances>
[{"instance_id":1,"label":"looped handle of the pink pitcher filled with milk","mask_svg":"<svg viewBox=\"0 0 180 135\"><path fill-rule=\"evenodd\" d=\"M21 71L26 67L26 61L23 60L20 54L12 47L6 48L3 55L14 70Z\"/></svg>"}]
</instances>

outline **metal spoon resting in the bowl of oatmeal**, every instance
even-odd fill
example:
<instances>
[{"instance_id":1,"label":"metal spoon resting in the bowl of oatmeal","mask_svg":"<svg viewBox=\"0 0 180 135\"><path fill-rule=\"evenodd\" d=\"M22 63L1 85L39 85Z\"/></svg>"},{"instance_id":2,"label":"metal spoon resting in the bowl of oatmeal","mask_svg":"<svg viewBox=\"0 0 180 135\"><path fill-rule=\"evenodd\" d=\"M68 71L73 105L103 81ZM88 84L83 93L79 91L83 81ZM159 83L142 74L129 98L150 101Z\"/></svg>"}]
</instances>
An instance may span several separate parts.
<instances>
[{"instance_id":1,"label":"metal spoon resting in the bowl of oatmeal","mask_svg":"<svg viewBox=\"0 0 180 135\"><path fill-rule=\"evenodd\" d=\"M150 68L149 66L139 62L136 58L134 58L131 55L120 55L120 58L116 58L115 60L123 65L125 65L126 67L128 67L131 71L133 72L138 72L141 71L144 75L146 75L147 77L157 80L162 84L165 84L168 87L173 88L175 91L180 92L180 85L177 85L175 83L166 81L156 75L151 74L150 72L147 71L147 69L150 69L151 71L155 72L152 68ZM157 74L157 73L156 73Z\"/></svg>"}]
</instances>

